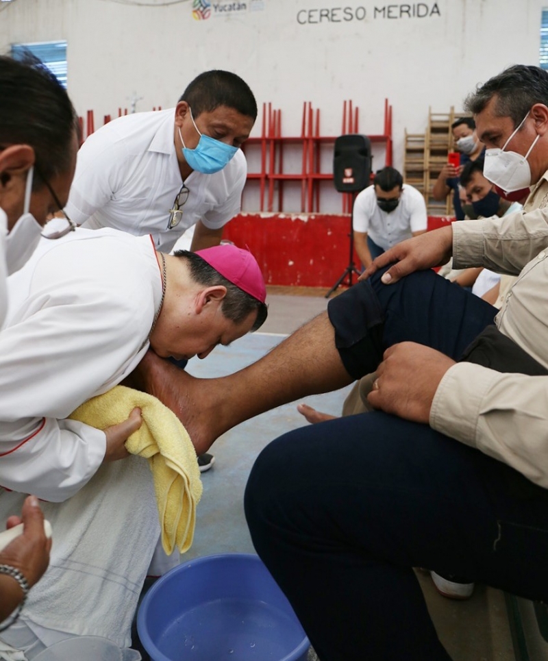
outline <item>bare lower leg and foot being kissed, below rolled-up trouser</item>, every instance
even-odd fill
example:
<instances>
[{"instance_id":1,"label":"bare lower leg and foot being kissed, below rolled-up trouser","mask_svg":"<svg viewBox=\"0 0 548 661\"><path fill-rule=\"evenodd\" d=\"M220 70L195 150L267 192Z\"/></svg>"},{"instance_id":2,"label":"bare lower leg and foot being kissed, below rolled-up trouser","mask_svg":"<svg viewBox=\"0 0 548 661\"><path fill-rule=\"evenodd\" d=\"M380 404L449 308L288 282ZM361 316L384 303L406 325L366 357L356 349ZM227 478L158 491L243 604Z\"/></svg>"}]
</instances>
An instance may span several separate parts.
<instances>
[{"instance_id":1,"label":"bare lower leg and foot being kissed, below rolled-up trouser","mask_svg":"<svg viewBox=\"0 0 548 661\"><path fill-rule=\"evenodd\" d=\"M353 381L334 345L327 313L316 316L258 362L227 377L197 379L148 351L130 387L158 397L185 425L197 453L264 411Z\"/></svg>"}]
</instances>

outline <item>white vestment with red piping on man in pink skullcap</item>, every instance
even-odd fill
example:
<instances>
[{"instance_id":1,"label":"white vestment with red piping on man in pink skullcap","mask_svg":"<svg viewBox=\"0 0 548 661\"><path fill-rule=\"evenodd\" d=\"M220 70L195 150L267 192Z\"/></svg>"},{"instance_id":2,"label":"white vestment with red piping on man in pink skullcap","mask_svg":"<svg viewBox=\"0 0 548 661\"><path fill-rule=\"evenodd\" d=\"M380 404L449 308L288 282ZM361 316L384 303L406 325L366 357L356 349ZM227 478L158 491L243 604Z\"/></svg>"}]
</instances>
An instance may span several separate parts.
<instances>
[{"instance_id":1,"label":"white vestment with red piping on man in pink skullcap","mask_svg":"<svg viewBox=\"0 0 548 661\"><path fill-rule=\"evenodd\" d=\"M12 491L0 490L0 521L32 492L50 501L42 509L53 525L49 569L21 618L125 647L159 535L151 473L138 457L101 465L104 432L64 419L147 351L162 297L151 238L78 229L42 239L8 294L0 485Z\"/></svg>"}]
</instances>

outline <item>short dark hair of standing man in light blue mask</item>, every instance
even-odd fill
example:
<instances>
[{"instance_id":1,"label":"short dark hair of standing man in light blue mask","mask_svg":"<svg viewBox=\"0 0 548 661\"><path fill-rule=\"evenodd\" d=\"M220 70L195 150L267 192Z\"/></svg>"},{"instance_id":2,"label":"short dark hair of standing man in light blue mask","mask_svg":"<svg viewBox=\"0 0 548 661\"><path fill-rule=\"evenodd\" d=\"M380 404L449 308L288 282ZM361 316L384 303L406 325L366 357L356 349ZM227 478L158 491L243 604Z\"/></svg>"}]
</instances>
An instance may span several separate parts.
<instances>
[{"instance_id":1,"label":"short dark hair of standing man in light blue mask","mask_svg":"<svg viewBox=\"0 0 548 661\"><path fill-rule=\"evenodd\" d=\"M184 90L179 101L186 101L196 119L201 112L212 112L220 105L234 108L242 115L257 119L257 101L249 85L229 71L214 69L197 76Z\"/></svg>"}]
</instances>

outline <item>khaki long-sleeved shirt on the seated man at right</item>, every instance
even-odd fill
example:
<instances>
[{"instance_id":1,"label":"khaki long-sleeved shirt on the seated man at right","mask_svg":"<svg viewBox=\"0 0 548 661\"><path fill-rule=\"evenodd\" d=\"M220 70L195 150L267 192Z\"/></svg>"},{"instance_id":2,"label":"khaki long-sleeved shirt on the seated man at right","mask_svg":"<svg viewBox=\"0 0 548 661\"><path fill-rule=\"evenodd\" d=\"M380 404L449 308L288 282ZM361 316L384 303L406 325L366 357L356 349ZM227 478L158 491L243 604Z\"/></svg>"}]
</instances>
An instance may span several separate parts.
<instances>
[{"instance_id":1,"label":"khaki long-sleeved shirt on the seated man at right","mask_svg":"<svg viewBox=\"0 0 548 661\"><path fill-rule=\"evenodd\" d=\"M495 322L548 368L548 171L523 211L452 227L456 268L518 276ZM453 365L436 390L430 426L548 488L548 376Z\"/></svg>"}]
</instances>

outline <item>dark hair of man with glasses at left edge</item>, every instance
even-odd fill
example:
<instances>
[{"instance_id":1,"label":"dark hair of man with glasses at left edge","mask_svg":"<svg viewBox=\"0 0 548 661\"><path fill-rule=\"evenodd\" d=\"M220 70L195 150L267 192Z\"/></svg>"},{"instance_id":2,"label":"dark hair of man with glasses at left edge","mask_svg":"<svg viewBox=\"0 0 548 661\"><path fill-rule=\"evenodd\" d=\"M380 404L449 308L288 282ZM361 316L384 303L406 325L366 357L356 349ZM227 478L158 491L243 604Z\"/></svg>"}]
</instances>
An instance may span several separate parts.
<instances>
[{"instance_id":1,"label":"dark hair of man with glasses at left edge","mask_svg":"<svg viewBox=\"0 0 548 661\"><path fill-rule=\"evenodd\" d=\"M35 189L40 176L49 181L69 169L75 134L73 104L49 68L30 53L21 60L0 55L0 147L34 149Z\"/></svg>"}]
</instances>

